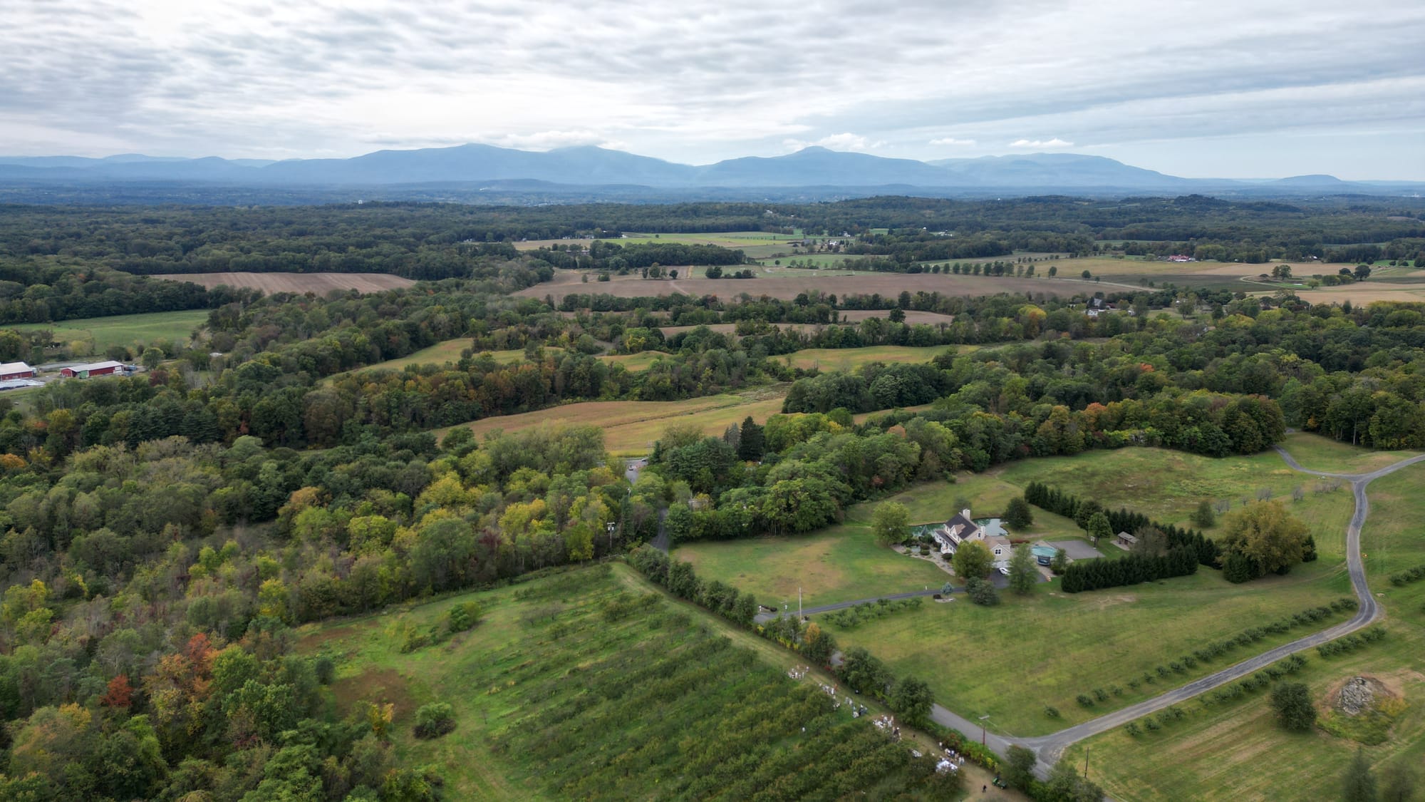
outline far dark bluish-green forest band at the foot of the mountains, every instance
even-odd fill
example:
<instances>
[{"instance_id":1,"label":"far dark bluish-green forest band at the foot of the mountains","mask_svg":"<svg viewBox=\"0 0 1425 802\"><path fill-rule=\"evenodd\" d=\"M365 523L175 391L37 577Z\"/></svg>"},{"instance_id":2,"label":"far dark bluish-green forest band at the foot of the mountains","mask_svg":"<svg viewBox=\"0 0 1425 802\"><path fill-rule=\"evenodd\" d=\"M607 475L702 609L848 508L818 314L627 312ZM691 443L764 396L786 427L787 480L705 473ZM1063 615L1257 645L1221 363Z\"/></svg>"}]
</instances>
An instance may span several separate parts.
<instances>
[{"instance_id":1,"label":"far dark bluish-green forest band at the foot of the mountains","mask_svg":"<svg viewBox=\"0 0 1425 802\"><path fill-rule=\"evenodd\" d=\"M470 275L480 257L513 258L520 240L589 238L580 253L544 250L557 267L737 264L734 251L607 241L624 231L771 231L846 235L846 253L896 263L1006 255L1187 253L1374 261L1425 258L1425 208L1414 198L1224 201L1201 196L1099 201L861 198L817 204L701 203L469 207L369 203L315 207L0 205L0 265L36 260L124 273L390 273L437 280ZM885 231L881 231L885 230ZM604 241L601 241L604 240ZM580 261L583 260L583 261ZM50 264L50 263L38 263Z\"/></svg>"}]
</instances>

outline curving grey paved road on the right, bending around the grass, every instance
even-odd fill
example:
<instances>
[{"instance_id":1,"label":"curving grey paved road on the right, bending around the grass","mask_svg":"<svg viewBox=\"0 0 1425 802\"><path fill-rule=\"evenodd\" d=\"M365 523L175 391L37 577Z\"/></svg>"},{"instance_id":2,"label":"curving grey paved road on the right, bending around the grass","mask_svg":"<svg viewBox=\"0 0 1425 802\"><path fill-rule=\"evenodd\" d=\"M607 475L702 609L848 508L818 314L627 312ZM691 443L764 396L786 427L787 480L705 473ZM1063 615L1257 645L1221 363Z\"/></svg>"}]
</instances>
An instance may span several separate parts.
<instances>
[{"instance_id":1,"label":"curving grey paved road on the right, bending around the grass","mask_svg":"<svg viewBox=\"0 0 1425 802\"><path fill-rule=\"evenodd\" d=\"M1241 679L1243 676L1247 676L1250 674L1261 671L1263 668L1267 668L1273 662L1277 662L1278 659L1290 654L1321 645L1327 641L1334 641L1335 638L1341 638L1344 635L1349 635L1351 632L1355 632L1357 629L1361 629L1362 626L1375 621L1375 618L1381 614L1381 609L1379 605L1375 604L1375 597L1371 595L1371 589L1367 585L1365 564L1361 561L1361 527L1365 525L1365 517L1371 512L1371 502L1365 495L1365 487L1371 484L1374 479L1378 479L1387 474L1392 474L1406 465L1414 465L1416 462L1425 461L1425 454L1419 457L1411 457L1409 460L1402 460L1399 462L1395 462L1394 465L1387 465L1385 468L1381 468L1378 471L1371 471L1369 474L1331 474L1325 471L1310 471L1307 468L1302 468L1280 445L1274 448L1287 462L1287 465L1290 465L1294 471L1301 471L1304 474L1312 474L1317 477L1331 477L1351 482L1351 489L1355 494L1355 515L1351 517L1351 524L1347 527L1345 532L1345 548L1347 548L1345 561L1347 561L1347 571L1351 575L1351 588L1355 591L1355 598L1358 602L1355 615L1351 616L1349 621L1337 624L1335 626L1322 629L1321 632L1298 638L1290 644L1282 644L1274 649L1268 649L1257 656L1244 659L1243 662L1224 668L1216 674L1203 676L1201 679L1194 679L1187 685L1174 688L1166 694L1139 702L1136 705L1113 711L1112 714L1104 714L1093 721L1086 721L1080 725L1070 726L1067 729L1060 729L1059 732L1050 735L1042 735L1037 738L1012 739L999 735L990 735L986 738L986 745L989 745L999 753L1003 753L1003 751L1010 743L1027 746L1039 753L1039 772L1042 775L1046 775L1049 766L1052 766L1059 761L1059 756L1063 755L1063 751L1069 745L1077 741L1083 741L1084 738L1107 732L1116 726L1123 726L1124 724L1133 719L1143 718L1149 714L1157 712L1170 705L1176 705L1178 702L1191 699L1193 696L1197 696L1198 694L1203 694L1206 691L1211 691L1213 688L1218 688L1228 682ZM973 732L975 729L978 729L976 724L969 722L952 714L950 711L940 708L939 705L936 705L936 709L932 712L931 718L933 718L938 724L960 729L962 732L965 732L966 736L969 736L970 732Z\"/></svg>"}]
</instances>

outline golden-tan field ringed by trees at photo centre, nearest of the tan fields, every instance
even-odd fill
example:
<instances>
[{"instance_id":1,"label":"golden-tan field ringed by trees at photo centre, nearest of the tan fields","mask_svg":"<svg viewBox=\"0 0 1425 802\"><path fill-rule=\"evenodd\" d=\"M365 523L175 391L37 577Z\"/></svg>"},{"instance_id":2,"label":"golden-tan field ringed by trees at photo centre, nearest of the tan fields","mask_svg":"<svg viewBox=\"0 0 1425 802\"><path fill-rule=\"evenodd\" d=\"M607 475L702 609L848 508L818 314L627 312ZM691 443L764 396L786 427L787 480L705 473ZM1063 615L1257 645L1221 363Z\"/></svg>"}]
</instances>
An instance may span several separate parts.
<instances>
[{"instance_id":1,"label":"golden-tan field ringed by trees at photo centre, nearest of the tan fields","mask_svg":"<svg viewBox=\"0 0 1425 802\"><path fill-rule=\"evenodd\" d=\"M499 415L463 424L476 437L492 431L519 431L542 424L593 424L604 430L604 447L614 457L640 457L671 424L693 424L708 435L752 415L758 421L782 411L785 385L742 394L704 395L685 401L583 401L534 412ZM453 427L452 427L453 428ZM443 434L449 430L437 430Z\"/></svg>"}]
</instances>

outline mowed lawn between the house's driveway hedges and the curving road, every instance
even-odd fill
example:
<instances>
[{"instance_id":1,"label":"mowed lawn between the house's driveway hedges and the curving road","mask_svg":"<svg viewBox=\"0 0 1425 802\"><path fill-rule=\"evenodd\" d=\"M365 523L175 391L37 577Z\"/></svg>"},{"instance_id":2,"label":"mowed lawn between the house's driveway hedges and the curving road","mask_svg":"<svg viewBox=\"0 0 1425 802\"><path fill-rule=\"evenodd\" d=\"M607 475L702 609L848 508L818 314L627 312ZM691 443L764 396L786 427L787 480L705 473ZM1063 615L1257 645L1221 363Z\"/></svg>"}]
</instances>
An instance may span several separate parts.
<instances>
[{"instance_id":1,"label":"mowed lawn between the house's driveway hedges and the curving road","mask_svg":"<svg viewBox=\"0 0 1425 802\"><path fill-rule=\"evenodd\" d=\"M1338 575L1344 578L1344 568L1317 562L1287 577L1233 585L1203 568L1193 577L1067 595L1057 592L1057 582L1045 582L1029 597L1000 592L998 606L958 597L851 631L822 625L842 646L865 646L896 675L919 676L931 685L935 701L952 711L990 715L996 732L1030 736L1151 698L1300 638L1311 628L1275 635L1186 674L1156 674L1159 665L1213 641L1347 595L1334 588L1344 584ZM1314 628L1344 619L1335 615ZM1144 674L1154 675L1154 682L1130 689L1129 681L1141 681ZM1092 709L1074 701L1114 685L1121 695ZM1060 718L1047 716L1046 706L1057 708Z\"/></svg>"}]
</instances>

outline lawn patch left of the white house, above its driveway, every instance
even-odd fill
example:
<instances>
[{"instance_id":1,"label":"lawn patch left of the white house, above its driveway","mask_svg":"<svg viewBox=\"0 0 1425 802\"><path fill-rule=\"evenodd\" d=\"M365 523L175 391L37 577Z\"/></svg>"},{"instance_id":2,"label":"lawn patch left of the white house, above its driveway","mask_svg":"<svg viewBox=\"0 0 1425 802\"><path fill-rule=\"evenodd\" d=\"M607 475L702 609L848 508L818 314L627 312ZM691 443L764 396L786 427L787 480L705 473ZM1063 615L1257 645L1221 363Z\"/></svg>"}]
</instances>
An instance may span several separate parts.
<instances>
[{"instance_id":1,"label":"lawn patch left of the white house, above its driveway","mask_svg":"<svg viewBox=\"0 0 1425 802\"><path fill-rule=\"evenodd\" d=\"M812 535L680 545L673 557L768 606L807 606L939 588L950 575L929 561L876 545L871 528L841 525Z\"/></svg>"}]
</instances>

